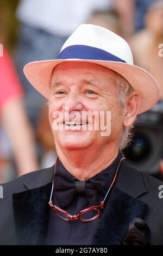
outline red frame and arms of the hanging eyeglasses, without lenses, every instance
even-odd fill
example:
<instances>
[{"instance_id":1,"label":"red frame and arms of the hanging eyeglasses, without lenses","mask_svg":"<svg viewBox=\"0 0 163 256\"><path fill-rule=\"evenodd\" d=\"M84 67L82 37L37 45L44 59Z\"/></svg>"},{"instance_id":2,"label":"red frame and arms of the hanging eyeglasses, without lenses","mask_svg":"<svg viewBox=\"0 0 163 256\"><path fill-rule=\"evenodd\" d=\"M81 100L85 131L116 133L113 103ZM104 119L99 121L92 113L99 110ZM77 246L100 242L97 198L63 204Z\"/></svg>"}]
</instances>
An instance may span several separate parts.
<instances>
[{"instance_id":1,"label":"red frame and arms of the hanging eyeglasses, without lenses","mask_svg":"<svg viewBox=\"0 0 163 256\"><path fill-rule=\"evenodd\" d=\"M50 205L51 209L55 212L55 214L56 214L57 216L59 216L62 220L67 221L67 222L68 222L68 221L72 221L72 220L80 220L80 221L82 221L82 222L89 222L89 221L94 221L94 220L96 220L96 218L98 218L99 215L101 214L101 210L104 208L105 199L106 199L106 197L108 196L108 194L109 194L109 192L110 192L112 186L113 186L114 183L115 183L115 180L116 180L116 177L117 177L117 174L118 174L118 170L120 169L120 166L121 166L121 162L125 159L125 156L123 155L123 153L121 153L121 154L122 154L122 157L121 157L121 159L120 159L120 161L119 161L119 163L118 163L118 166L117 166L117 169L116 169L116 173L115 173L114 179L113 179L112 182L111 182L111 185L110 185L110 187L109 187L108 192L106 193L106 195L105 195L105 197L104 197L104 200L101 202L100 205L98 205L98 206L97 206L97 205L90 206L89 208L86 208L86 209L80 211L79 214L77 214L77 215L68 214L67 211L62 210L61 208L59 208L59 206L53 205L52 196L53 196L53 188L54 188L54 175L55 175L55 170L57 169L57 167L58 167L58 162L59 162L59 157L57 157L57 161L56 161L56 163L55 163L55 168L54 168L54 174L53 174L53 182L52 182L51 197L50 197L50 200L49 200L49 202L48 202L48 204ZM83 218L80 217L80 215L82 215L82 214L84 214L85 212L90 211L90 210L92 210L92 209L97 209L97 210L98 210L98 213L97 213L97 215L96 215L95 217L90 218L89 220L84 220ZM66 219L66 218L62 217L61 215L59 215L58 212L56 212L55 210L58 210L58 211L60 211L62 214L65 214L65 216L67 216L68 219Z\"/></svg>"}]
</instances>

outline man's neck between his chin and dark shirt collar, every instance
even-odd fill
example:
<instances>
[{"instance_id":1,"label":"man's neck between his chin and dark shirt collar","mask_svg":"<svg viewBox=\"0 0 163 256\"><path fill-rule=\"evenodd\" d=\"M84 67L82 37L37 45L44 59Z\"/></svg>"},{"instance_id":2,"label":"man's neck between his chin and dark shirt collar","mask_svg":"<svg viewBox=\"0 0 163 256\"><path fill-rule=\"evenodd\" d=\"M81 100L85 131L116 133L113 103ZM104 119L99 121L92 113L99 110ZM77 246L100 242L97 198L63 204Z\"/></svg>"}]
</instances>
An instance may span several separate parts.
<instances>
[{"instance_id":1,"label":"man's neck between his chin and dark shirt collar","mask_svg":"<svg viewBox=\"0 0 163 256\"><path fill-rule=\"evenodd\" d=\"M87 180L96 174L100 173L106 167L110 166L118 155L118 147L108 145L102 150L79 149L65 150L56 145L57 154L69 173L78 180Z\"/></svg>"}]
</instances>

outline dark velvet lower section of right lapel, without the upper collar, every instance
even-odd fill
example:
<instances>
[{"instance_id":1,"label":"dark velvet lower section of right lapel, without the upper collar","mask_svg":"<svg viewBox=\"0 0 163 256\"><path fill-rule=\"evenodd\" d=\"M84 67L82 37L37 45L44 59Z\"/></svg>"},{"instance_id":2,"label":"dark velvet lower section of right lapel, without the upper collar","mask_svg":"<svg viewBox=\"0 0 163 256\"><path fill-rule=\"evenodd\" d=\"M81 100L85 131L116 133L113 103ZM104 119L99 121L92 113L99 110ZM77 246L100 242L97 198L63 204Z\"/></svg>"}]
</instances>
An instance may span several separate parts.
<instances>
[{"instance_id":1,"label":"dark velvet lower section of right lapel, without the upper collar","mask_svg":"<svg viewBox=\"0 0 163 256\"><path fill-rule=\"evenodd\" d=\"M146 204L114 188L91 244L122 245L129 223L135 217L142 218L146 210Z\"/></svg>"}]
</instances>

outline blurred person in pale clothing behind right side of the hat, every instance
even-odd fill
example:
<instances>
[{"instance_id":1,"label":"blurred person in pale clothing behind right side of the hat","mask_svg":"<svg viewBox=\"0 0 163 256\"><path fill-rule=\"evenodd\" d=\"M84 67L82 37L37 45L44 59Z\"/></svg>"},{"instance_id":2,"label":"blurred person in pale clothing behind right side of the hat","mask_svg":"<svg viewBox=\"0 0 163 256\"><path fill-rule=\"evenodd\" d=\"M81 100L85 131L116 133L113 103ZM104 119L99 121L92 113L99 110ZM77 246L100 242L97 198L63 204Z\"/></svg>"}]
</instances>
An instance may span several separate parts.
<instances>
[{"instance_id":1,"label":"blurred person in pale clothing behind right side of the hat","mask_svg":"<svg viewBox=\"0 0 163 256\"><path fill-rule=\"evenodd\" d=\"M160 100L163 100L163 58L159 45L163 42L163 1L149 7L145 16L145 29L131 38L135 64L151 72L160 84Z\"/></svg>"}]
</instances>

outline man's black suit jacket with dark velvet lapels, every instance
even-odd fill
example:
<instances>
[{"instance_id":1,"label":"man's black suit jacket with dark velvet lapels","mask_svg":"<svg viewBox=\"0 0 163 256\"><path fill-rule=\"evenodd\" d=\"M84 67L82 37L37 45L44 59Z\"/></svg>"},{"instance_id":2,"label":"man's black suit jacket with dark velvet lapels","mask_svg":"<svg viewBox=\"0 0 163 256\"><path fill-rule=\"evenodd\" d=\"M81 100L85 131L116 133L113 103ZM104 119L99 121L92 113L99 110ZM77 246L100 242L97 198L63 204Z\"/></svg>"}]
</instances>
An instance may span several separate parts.
<instances>
[{"instance_id":1,"label":"man's black suit jacket with dark velvet lapels","mask_svg":"<svg viewBox=\"0 0 163 256\"><path fill-rule=\"evenodd\" d=\"M53 170L54 166L37 170L3 184L0 245L45 244ZM160 185L161 181L131 168L126 160L122 161L91 244L122 245L124 237L128 237L130 223L141 218L151 230L151 245L163 245L163 199L158 196Z\"/></svg>"}]
</instances>

